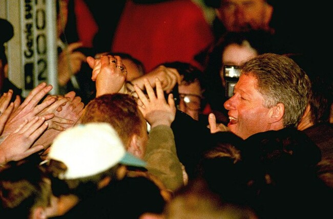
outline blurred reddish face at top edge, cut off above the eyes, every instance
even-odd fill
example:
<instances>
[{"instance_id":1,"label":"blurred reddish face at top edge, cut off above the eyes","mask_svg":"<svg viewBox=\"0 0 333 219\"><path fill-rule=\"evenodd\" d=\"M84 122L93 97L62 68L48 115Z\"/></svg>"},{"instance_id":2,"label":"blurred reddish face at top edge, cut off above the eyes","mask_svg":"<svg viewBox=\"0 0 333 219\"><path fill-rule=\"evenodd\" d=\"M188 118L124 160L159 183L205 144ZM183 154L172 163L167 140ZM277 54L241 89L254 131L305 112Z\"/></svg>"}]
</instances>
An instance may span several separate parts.
<instances>
[{"instance_id":1,"label":"blurred reddish face at top edge, cut off above the eyes","mask_svg":"<svg viewBox=\"0 0 333 219\"><path fill-rule=\"evenodd\" d=\"M221 0L216 14L227 31L269 30L273 7L265 0Z\"/></svg>"}]
</instances>

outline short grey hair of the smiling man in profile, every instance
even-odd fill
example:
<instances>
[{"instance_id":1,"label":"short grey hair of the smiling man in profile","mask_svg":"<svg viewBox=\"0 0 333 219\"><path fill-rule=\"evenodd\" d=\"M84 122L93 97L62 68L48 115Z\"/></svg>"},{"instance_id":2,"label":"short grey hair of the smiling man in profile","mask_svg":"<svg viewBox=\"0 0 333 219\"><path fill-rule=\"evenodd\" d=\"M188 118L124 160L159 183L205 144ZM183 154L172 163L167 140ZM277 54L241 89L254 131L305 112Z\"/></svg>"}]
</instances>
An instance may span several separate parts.
<instances>
[{"instance_id":1,"label":"short grey hair of the smiling man in profile","mask_svg":"<svg viewBox=\"0 0 333 219\"><path fill-rule=\"evenodd\" d=\"M309 101L311 82L293 59L265 53L243 63L241 74L257 79L257 90L264 97L265 107L284 105L284 127L297 126Z\"/></svg>"}]
</instances>

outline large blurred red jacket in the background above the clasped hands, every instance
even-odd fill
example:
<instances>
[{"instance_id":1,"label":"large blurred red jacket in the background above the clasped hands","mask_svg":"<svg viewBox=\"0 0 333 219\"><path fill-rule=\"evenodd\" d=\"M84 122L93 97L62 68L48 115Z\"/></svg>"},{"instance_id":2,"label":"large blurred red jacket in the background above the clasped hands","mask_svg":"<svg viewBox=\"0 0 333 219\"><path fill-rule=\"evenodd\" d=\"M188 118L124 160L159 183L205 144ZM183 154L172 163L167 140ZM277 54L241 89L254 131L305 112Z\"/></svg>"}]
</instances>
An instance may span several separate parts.
<instances>
[{"instance_id":1,"label":"large blurred red jacket in the background above the clasped hands","mask_svg":"<svg viewBox=\"0 0 333 219\"><path fill-rule=\"evenodd\" d=\"M203 11L191 0L155 4L128 1L120 17L112 52L129 53L147 72L170 61L189 62L214 40Z\"/></svg>"}]
</instances>

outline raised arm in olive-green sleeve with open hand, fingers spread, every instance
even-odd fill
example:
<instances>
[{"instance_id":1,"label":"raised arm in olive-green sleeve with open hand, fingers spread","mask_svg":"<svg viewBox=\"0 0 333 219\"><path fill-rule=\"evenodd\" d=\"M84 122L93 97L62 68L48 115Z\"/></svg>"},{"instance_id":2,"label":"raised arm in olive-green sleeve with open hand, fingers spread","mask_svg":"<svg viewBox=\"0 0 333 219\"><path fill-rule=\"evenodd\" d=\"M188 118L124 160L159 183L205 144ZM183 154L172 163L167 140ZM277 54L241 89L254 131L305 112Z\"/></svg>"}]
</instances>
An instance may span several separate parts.
<instances>
[{"instance_id":1,"label":"raised arm in olive-green sleeve with open hand, fingers spread","mask_svg":"<svg viewBox=\"0 0 333 219\"><path fill-rule=\"evenodd\" d=\"M171 123L175 119L176 107L173 95L165 100L161 82L155 79L156 95L150 82L145 79L144 86L148 97L135 85L139 97L138 105L144 118L150 123L149 141L144 155L147 169L154 174L164 186L175 191L183 183L182 165L177 157Z\"/></svg>"}]
</instances>

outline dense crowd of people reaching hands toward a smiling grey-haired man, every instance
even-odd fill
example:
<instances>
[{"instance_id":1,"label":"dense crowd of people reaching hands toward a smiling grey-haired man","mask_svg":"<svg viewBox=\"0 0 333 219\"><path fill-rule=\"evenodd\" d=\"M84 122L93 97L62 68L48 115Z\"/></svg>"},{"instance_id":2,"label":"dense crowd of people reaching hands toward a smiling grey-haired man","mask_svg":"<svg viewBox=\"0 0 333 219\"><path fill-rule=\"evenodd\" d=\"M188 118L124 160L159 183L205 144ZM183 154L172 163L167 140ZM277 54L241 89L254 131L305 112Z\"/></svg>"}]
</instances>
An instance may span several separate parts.
<instances>
[{"instance_id":1,"label":"dense crowd of people reaching hands toward a smiling grey-haired man","mask_svg":"<svg viewBox=\"0 0 333 219\"><path fill-rule=\"evenodd\" d=\"M96 12L57 2L59 41L71 9ZM202 1L212 23L195 2L121 1L111 47L60 48L56 95L6 78L0 19L0 218L329 215L329 70L280 47L270 1Z\"/></svg>"}]
</instances>

